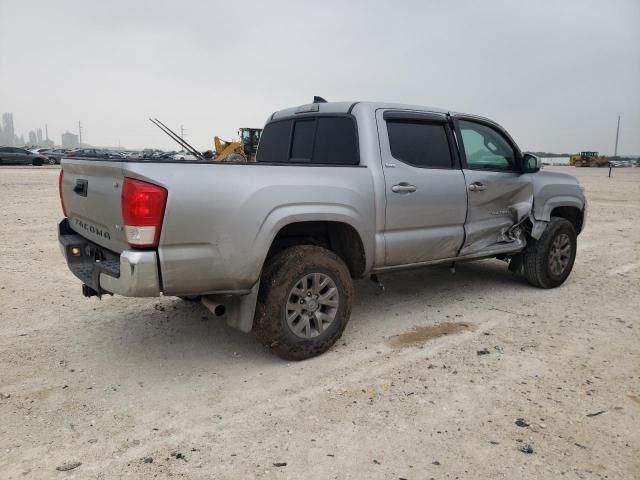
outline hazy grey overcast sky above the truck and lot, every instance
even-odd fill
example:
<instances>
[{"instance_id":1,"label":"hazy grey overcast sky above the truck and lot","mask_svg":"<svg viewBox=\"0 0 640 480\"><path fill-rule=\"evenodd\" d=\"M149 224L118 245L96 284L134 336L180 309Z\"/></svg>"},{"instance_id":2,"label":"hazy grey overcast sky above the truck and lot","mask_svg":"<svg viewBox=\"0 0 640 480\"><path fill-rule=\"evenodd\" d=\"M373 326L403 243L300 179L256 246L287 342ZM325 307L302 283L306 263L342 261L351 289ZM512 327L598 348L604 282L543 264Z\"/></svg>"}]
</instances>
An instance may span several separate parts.
<instances>
[{"instance_id":1,"label":"hazy grey overcast sky above the truck and lot","mask_svg":"<svg viewBox=\"0 0 640 480\"><path fill-rule=\"evenodd\" d=\"M640 154L640 0L0 0L0 112L94 145L211 148L329 100L486 115L521 148Z\"/></svg>"}]
</instances>

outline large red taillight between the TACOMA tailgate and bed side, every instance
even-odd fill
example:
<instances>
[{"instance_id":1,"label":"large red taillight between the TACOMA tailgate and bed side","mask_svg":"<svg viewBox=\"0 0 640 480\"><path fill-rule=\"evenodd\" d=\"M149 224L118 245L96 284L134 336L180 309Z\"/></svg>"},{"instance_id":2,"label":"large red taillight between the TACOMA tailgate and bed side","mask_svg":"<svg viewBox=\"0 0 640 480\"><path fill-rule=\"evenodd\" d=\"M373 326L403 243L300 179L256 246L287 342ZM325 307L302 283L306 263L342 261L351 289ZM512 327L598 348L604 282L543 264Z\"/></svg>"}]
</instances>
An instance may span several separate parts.
<instances>
[{"instance_id":1,"label":"large red taillight between the TACOMA tailgate and bed side","mask_svg":"<svg viewBox=\"0 0 640 480\"><path fill-rule=\"evenodd\" d=\"M125 178L122 185L122 219L132 247L156 247L160 240L167 191L152 183Z\"/></svg>"}]
</instances>

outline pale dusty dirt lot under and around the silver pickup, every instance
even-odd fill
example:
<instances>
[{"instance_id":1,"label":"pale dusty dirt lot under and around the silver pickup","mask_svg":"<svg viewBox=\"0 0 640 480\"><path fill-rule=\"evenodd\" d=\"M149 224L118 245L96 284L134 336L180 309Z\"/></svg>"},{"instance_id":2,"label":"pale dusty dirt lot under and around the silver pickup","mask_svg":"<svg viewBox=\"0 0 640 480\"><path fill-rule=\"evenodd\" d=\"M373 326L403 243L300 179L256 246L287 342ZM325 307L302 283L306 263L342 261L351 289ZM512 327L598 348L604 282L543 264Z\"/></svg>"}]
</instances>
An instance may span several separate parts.
<instances>
[{"instance_id":1,"label":"pale dusty dirt lot under and around the silver pickup","mask_svg":"<svg viewBox=\"0 0 640 480\"><path fill-rule=\"evenodd\" d=\"M0 478L640 478L640 168L554 170L590 201L564 286L360 281L343 339L286 363L198 304L83 298L58 168L0 168Z\"/></svg>"}]
</instances>

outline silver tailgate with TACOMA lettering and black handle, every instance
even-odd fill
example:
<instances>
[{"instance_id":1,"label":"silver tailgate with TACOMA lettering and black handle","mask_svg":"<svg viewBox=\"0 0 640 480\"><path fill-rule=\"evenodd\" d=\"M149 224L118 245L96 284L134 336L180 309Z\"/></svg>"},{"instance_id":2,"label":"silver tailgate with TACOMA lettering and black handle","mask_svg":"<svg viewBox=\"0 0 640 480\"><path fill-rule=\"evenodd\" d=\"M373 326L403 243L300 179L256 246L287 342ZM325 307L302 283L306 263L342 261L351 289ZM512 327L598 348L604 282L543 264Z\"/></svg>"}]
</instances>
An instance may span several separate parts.
<instances>
[{"instance_id":1,"label":"silver tailgate with TACOMA lettering and black handle","mask_svg":"<svg viewBox=\"0 0 640 480\"><path fill-rule=\"evenodd\" d=\"M62 162L62 198L69 226L114 252L128 248L122 221L122 182L126 164L101 160Z\"/></svg>"}]
</instances>

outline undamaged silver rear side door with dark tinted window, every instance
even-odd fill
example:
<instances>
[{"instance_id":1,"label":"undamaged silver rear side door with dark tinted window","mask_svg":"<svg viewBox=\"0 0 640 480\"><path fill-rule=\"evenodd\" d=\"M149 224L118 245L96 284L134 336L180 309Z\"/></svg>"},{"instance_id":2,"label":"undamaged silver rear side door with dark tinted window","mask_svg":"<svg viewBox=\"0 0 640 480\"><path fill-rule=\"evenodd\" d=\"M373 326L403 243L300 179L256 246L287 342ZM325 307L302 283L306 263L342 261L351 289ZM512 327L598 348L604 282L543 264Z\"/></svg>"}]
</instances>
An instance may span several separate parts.
<instances>
[{"instance_id":1,"label":"undamaged silver rear side door with dark tinted window","mask_svg":"<svg viewBox=\"0 0 640 480\"><path fill-rule=\"evenodd\" d=\"M467 192L444 114L376 114L385 178L385 266L455 257Z\"/></svg>"}]
</instances>

